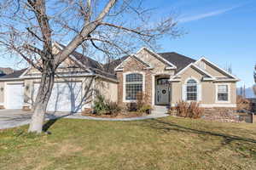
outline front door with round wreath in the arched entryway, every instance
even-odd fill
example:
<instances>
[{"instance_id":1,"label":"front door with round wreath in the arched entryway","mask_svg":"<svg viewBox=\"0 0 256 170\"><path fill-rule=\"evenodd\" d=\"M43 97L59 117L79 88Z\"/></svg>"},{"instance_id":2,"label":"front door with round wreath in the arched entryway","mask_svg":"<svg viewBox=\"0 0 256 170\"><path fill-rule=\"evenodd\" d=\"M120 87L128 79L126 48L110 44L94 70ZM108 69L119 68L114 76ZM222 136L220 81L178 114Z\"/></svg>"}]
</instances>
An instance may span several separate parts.
<instances>
[{"instance_id":1,"label":"front door with round wreath in the arched entryway","mask_svg":"<svg viewBox=\"0 0 256 170\"><path fill-rule=\"evenodd\" d=\"M161 78L157 80L155 86L156 105L169 105L170 104L170 88L168 78Z\"/></svg>"}]
</instances>

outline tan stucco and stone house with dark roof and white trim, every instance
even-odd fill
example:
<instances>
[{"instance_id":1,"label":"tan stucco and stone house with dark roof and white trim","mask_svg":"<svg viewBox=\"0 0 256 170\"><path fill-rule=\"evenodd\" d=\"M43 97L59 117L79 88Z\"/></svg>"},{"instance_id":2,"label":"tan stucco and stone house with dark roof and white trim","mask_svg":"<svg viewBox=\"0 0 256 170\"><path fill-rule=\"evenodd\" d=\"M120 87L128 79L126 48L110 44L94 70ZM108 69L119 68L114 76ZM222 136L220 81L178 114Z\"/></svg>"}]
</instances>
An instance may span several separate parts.
<instances>
[{"instance_id":1,"label":"tan stucco and stone house with dark roof and white trim","mask_svg":"<svg viewBox=\"0 0 256 170\"><path fill-rule=\"evenodd\" d=\"M63 46L54 44L55 53ZM0 78L0 107L32 109L40 72L30 67ZM148 94L153 108L196 101L216 111L236 109L236 82L229 72L202 57L195 60L177 53L156 54L141 48L137 54L102 65L73 52L57 69L48 111L85 111L97 94L118 102L134 102L138 92Z\"/></svg>"}]
</instances>

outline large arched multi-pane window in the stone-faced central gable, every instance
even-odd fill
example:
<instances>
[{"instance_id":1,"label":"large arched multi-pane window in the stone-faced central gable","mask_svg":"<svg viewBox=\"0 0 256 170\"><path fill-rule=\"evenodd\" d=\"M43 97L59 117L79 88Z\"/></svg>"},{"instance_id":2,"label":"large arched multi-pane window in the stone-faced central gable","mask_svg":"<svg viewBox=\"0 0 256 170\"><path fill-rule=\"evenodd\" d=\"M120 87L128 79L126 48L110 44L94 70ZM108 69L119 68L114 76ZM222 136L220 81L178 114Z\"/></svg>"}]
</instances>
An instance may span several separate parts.
<instances>
[{"instance_id":1,"label":"large arched multi-pane window in the stone-faced central gable","mask_svg":"<svg viewBox=\"0 0 256 170\"><path fill-rule=\"evenodd\" d=\"M125 77L125 99L136 99L138 92L143 91L143 75L132 73Z\"/></svg>"}]
</instances>

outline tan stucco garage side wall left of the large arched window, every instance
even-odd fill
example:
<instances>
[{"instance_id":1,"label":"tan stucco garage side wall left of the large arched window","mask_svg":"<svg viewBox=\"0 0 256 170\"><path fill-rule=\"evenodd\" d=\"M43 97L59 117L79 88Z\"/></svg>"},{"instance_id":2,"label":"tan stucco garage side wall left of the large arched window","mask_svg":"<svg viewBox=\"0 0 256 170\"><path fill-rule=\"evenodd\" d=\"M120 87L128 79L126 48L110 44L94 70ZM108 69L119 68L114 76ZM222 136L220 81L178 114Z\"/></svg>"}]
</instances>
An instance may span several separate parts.
<instances>
[{"instance_id":1,"label":"tan stucco garage side wall left of the large arched window","mask_svg":"<svg viewBox=\"0 0 256 170\"><path fill-rule=\"evenodd\" d=\"M118 83L117 82L109 82L108 80L104 80L102 78L96 79L96 91L98 94L101 94L113 102L118 101Z\"/></svg>"}]
</instances>

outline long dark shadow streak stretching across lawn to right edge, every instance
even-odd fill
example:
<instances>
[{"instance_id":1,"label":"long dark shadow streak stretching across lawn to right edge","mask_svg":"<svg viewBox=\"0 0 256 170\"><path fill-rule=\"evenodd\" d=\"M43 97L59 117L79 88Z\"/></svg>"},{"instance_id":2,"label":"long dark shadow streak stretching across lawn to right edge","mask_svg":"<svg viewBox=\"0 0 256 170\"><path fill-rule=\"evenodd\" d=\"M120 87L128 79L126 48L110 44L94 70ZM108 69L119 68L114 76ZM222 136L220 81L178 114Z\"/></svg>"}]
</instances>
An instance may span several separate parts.
<instances>
[{"instance_id":1,"label":"long dark shadow streak stretching across lawn to right edge","mask_svg":"<svg viewBox=\"0 0 256 170\"><path fill-rule=\"evenodd\" d=\"M177 131L177 132L183 132L183 133L197 133L197 134L205 134L205 135L222 137L222 138L224 138L224 144L230 144L230 142L232 142L234 140L256 144L255 139L247 139L247 138L242 138L242 137L239 137L236 135L230 135L230 134L224 134L224 133L214 133L214 132L210 132L210 131L198 130L195 128L184 127L184 126L178 125L173 122L161 121L159 119L152 119L152 120L146 121L146 122L150 123L148 125L149 127L152 127L154 129L158 129L158 130L164 130L165 132Z\"/></svg>"}]
</instances>

